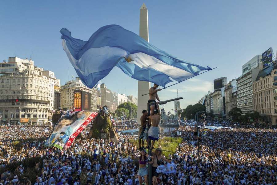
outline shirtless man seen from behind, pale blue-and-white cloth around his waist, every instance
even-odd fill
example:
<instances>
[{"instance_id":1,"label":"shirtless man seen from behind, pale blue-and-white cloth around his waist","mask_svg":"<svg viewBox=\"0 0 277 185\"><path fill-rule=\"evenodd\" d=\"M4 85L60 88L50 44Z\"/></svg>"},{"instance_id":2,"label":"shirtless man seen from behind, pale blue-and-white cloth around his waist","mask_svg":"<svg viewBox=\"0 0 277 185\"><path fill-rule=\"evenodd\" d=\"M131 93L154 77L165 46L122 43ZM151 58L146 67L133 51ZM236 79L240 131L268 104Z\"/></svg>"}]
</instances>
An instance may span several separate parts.
<instances>
[{"instance_id":1,"label":"shirtless man seen from behind, pale blue-and-white cloth around his waist","mask_svg":"<svg viewBox=\"0 0 277 185\"><path fill-rule=\"evenodd\" d=\"M148 139L152 140L151 149L153 148L155 141L159 139L159 123L161 121L161 113L158 102L157 109L154 109L153 113L154 115L150 115L148 117L151 121L151 127L148 130Z\"/></svg>"}]
</instances>

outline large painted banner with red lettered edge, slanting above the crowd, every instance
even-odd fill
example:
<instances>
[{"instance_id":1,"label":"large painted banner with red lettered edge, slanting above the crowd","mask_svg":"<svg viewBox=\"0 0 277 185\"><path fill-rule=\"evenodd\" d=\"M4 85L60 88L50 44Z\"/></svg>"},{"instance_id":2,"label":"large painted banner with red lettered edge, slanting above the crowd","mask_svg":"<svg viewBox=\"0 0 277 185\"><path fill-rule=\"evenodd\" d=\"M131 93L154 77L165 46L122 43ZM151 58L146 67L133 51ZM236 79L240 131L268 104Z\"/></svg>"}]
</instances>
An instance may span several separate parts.
<instances>
[{"instance_id":1,"label":"large painted banner with red lettered edge, slanting above the crowd","mask_svg":"<svg viewBox=\"0 0 277 185\"><path fill-rule=\"evenodd\" d=\"M71 117L64 116L54 127L50 137L44 143L45 146L54 146L59 149L68 148L74 138L82 132L98 113L96 112L75 112Z\"/></svg>"}]
</instances>

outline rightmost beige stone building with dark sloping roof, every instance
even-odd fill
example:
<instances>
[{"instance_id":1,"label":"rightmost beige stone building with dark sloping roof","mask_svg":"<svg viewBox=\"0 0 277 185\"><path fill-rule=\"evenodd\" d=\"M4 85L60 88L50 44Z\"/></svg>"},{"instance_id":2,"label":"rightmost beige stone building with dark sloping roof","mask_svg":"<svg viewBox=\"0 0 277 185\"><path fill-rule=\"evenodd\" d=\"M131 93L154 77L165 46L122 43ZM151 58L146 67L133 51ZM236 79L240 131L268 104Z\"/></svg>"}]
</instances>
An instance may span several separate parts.
<instances>
[{"instance_id":1,"label":"rightmost beige stone building with dark sloping roof","mask_svg":"<svg viewBox=\"0 0 277 185\"><path fill-rule=\"evenodd\" d=\"M259 112L260 124L276 127L277 122L277 64L261 69L253 81L253 111Z\"/></svg>"}]
</instances>

